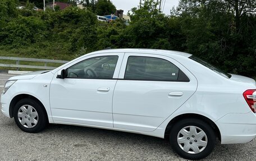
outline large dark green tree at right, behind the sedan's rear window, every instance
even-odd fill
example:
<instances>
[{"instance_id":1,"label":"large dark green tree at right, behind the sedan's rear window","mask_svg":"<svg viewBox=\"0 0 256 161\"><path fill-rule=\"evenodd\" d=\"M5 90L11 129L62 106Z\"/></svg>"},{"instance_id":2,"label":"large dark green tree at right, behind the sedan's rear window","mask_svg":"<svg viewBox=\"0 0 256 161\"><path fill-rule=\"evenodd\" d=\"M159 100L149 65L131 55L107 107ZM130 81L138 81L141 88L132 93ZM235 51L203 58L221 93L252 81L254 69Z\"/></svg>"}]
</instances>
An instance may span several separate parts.
<instances>
[{"instance_id":1,"label":"large dark green tree at right, behind the sedan's rear window","mask_svg":"<svg viewBox=\"0 0 256 161\"><path fill-rule=\"evenodd\" d=\"M186 35L186 51L227 72L256 70L255 0L181 0L175 16Z\"/></svg>"}]
</instances>

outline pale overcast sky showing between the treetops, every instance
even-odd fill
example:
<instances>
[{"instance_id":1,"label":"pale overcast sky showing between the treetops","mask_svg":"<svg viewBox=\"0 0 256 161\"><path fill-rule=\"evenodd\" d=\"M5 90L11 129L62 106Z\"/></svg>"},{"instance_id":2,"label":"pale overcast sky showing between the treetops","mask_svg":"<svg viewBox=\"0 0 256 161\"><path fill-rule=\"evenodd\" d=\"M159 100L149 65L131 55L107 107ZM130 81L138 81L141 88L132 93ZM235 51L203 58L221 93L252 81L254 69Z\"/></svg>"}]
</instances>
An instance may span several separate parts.
<instances>
[{"instance_id":1,"label":"pale overcast sky showing between the treetops","mask_svg":"<svg viewBox=\"0 0 256 161\"><path fill-rule=\"evenodd\" d=\"M124 10L124 14L126 15L129 10L133 7L138 7L140 0L111 0L113 4L116 6L117 10ZM155 0L157 1L157 0ZM179 4L179 0L162 0L164 5L163 13L166 15L170 15L170 10L173 6L177 6Z\"/></svg>"}]
</instances>

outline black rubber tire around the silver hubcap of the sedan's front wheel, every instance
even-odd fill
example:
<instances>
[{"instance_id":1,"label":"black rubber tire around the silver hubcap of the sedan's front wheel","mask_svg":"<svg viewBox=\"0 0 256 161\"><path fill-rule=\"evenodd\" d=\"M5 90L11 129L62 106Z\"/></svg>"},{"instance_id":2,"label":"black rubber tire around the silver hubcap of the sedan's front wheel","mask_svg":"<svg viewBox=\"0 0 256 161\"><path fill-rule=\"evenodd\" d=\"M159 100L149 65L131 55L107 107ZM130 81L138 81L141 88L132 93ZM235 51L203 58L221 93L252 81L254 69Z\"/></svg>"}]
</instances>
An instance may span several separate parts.
<instances>
[{"instance_id":1,"label":"black rubber tire around the silver hubcap of the sedan's front wheel","mask_svg":"<svg viewBox=\"0 0 256 161\"><path fill-rule=\"evenodd\" d=\"M35 117L35 119L37 119L37 122L36 122L36 124L33 123L33 125L32 125L34 127L30 127L30 128L25 127L26 123L25 123L25 125L22 125L21 121L20 121L20 119L23 119L23 118L18 117L18 111L21 112L20 108L23 106L28 107L26 105L30 105L31 107L33 107L34 108L33 112L35 112L35 111L37 112L37 117ZM28 114L28 113L26 113L26 114ZM17 126L22 131L30 132L30 133L36 133L36 132L43 130L43 128L47 125L47 122L48 122L47 114L44 112L44 107L32 98L24 98L24 99L21 99L19 102L17 102L13 109L13 116L14 116ZM30 117L26 116L26 119L30 119ZM34 118L31 117L31 119L34 119Z\"/></svg>"}]
</instances>

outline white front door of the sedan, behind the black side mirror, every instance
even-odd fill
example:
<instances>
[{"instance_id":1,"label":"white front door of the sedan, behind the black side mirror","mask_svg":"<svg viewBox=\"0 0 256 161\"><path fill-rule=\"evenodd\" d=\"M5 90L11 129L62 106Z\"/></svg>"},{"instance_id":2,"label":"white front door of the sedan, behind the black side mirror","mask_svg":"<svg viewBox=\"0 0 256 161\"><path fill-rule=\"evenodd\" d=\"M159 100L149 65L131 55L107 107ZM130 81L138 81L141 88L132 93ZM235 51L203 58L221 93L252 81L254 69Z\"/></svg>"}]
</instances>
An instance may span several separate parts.
<instances>
[{"instance_id":1,"label":"white front door of the sedan, behind the black side mirror","mask_svg":"<svg viewBox=\"0 0 256 161\"><path fill-rule=\"evenodd\" d=\"M50 103L55 123L113 127L112 96L123 53L91 55L65 67L51 82Z\"/></svg>"}]
</instances>

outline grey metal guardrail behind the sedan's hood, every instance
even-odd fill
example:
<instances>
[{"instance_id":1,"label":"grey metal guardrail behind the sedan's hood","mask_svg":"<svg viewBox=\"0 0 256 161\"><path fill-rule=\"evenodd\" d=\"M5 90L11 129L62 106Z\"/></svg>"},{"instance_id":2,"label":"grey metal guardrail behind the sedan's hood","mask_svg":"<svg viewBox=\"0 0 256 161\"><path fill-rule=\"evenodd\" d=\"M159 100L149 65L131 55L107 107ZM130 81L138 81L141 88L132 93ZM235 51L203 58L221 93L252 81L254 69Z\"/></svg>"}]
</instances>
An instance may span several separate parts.
<instances>
[{"instance_id":1,"label":"grey metal guardrail behind the sedan's hood","mask_svg":"<svg viewBox=\"0 0 256 161\"><path fill-rule=\"evenodd\" d=\"M0 59L16 61L16 65L0 63L0 67L15 67L15 68L17 68L17 70L19 70L19 68L35 68L35 69L53 70L54 68L57 68L57 67L47 66L47 63L62 63L62 64L64 64L64 63L68 62L68 61L51 60L51 59L17 58L17 57L0 57ZM20 61L44 62L44 66L20 65Z\"/></svg>"}]
</instances>

